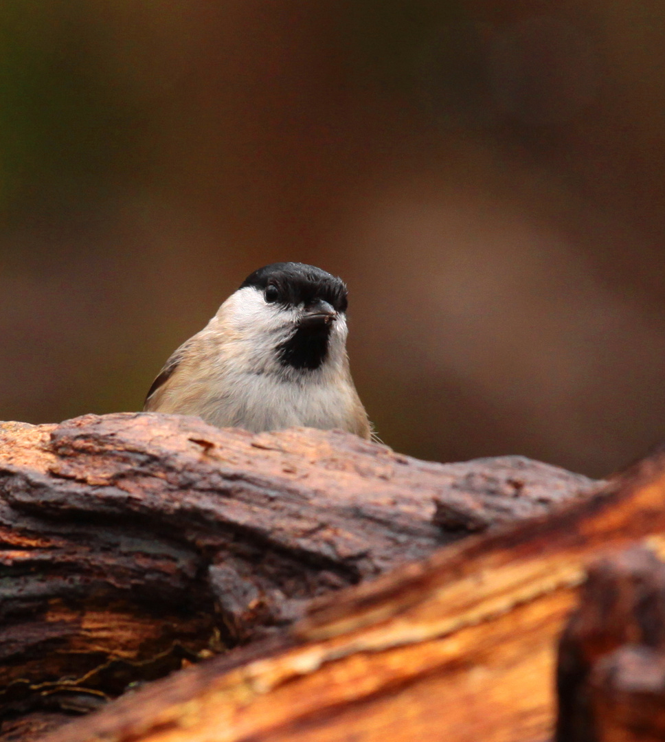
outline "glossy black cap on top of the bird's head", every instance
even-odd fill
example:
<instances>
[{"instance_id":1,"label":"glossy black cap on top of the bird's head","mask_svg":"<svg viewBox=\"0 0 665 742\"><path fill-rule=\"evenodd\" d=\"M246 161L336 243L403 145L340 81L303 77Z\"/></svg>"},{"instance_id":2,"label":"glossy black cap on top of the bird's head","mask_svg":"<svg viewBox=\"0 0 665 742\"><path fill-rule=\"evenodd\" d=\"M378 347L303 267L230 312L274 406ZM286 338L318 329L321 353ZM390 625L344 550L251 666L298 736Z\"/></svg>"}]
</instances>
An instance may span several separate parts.
<instances>
[{"instance_id":1,"label":"glossy black cap on top of the bird's head","mask_svg":"<svg viewBox=\"0 0 665 742\"><path fill-rule=\"evenodd\" d=\"M282 304L305 306L323 299L338 312L347 310L347 287L341 278L305 263L272 263L263 266L247 276L240 289L253 286L261 291L268 286L278 289L278 298Z\"/></svg>"}]
</instances>

